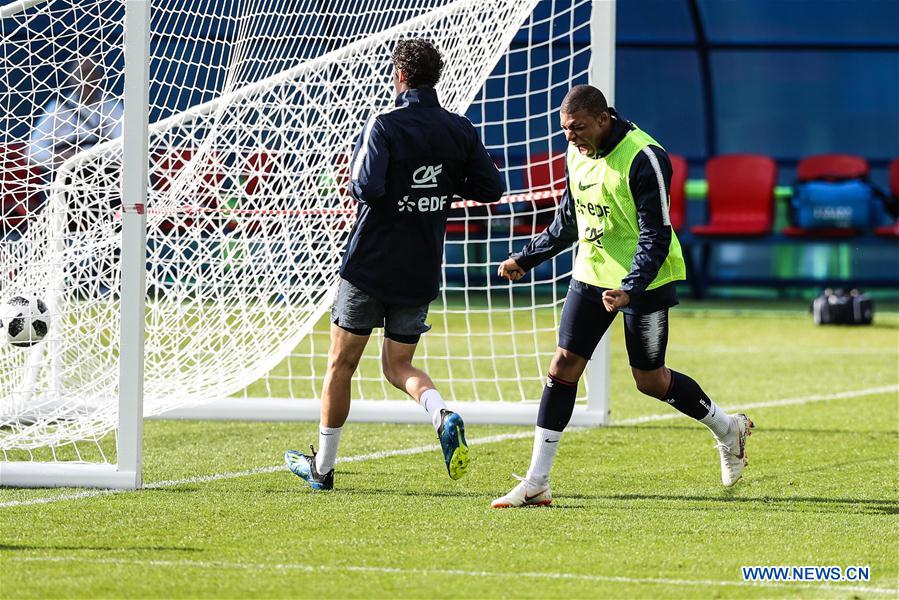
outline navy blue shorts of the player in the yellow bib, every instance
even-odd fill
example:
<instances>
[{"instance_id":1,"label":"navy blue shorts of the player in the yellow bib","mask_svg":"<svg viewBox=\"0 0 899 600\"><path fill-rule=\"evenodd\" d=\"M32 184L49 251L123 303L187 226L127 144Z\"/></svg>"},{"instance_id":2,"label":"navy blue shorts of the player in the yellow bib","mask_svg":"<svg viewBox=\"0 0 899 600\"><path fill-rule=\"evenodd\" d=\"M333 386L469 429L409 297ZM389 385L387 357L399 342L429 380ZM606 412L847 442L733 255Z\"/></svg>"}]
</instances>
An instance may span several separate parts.
<instances>
[{"instance_id":1,"label":"navy blue shorts of the player in the yellow bib","mask_svg":"<svg viewBox=\"0 0 899 600\"><path fill-rule=\"evenodd\" d=\"M624 343L630 365L642 371L653 371L665 366L668 309L677 304L673 286L669 290L651 294L649 298L644 296L637 310L630 307L629 311L608 312L602 304L603 291L603 288L572 280L562 308L559 347L589 360L615 316L622 312Z\"/></svg>"}]
</instances>

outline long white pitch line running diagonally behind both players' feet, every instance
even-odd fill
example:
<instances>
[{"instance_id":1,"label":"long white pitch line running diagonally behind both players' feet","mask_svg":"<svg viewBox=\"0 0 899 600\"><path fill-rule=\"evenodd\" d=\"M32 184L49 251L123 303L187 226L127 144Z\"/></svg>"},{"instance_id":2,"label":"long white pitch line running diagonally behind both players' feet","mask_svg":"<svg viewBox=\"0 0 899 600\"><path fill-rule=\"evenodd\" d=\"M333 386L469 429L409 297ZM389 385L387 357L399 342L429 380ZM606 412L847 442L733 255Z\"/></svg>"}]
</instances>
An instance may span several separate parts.
<instances>
[{"instance_id":1,"label":"long white pitch line running diagonally behind both players' feet","mask_svg":"<svg viewBox=\"0 0 899 600\"><path fill-rule=\"evenodd\" d=\"M858 398L861 396L871 396L874 394L885 394L888 392L899 391L899 385L885 385L874 388L867 388L862 390L851 390L848 392L838 392L835 394L815 394L811 396L800 396L798 398L785 398L782 400L768 400L765 402L753 402L750 404L743 404L740 406L729 407L725 410L728 411L736 411L736 410L752 410L755 408L775 408L779 406L794 406L801 404L810 404L812 402L830 402L833 400L845 400L848 398ZM679 412L668 412L660 415L645 415L642 417L634 417L632 419L623 419L621 421L616 421L612 424L612 427L622 426L622 425L639 425L642 423L651 423L654 421L668 421L671 419L677 419L683 417ZM685 417L686 418L686 417ZM574 428L572 428L573 432ZM580 429L584 431L585 429ZM503 442L506 440L518 440L524 438L530 438L534 435L532 431L521 431L516 433L504 433L501 435L493 435L483 438L474 438L468 440L469 445L477 446L480 444L492 444L495 442ZM362 462L368 460L377 460L381 458L390 458L393 456L410 456L413 454L424 454L426 452L434 452L439 450L440 446L437 444L431 444L427 446L416 446L414 448L403 448L399 450L382 450L380 452L372 452L370 454L360 454L357 456L347 456L344 458L338 458L337 462L339 464L349 463L349 462ZM275 473L283 470L285 467L283 465L273 465L271 467L258 467L256 469L248 469L246 471L232 471L229 473L215 473L213 475L203 475L200 477L187 477L184 479L171 479L165 481L156 481L153 483L148 483L144 485L144 490L154 490L160 488L167 487L175 487L179 485L190 485L195 483L206 483L208 481L221 481L224 479L235 479L237 477L247 477L250 475L259 475L262 473ZM75 492L71 494L60 494L58 496L49 496L44 498L32 498L29 500L10 500L8 502L0 503L0 508L12 508L17 506L33 506L36 504L50 504L54 502L63 502L66 500L81 500L83 498L94 498L97 496L107 496L112 494L125 494L125 493L140 493L141 490L132 491L132 490L87 490L83 492Z\"/></svg>"}]
</instances>

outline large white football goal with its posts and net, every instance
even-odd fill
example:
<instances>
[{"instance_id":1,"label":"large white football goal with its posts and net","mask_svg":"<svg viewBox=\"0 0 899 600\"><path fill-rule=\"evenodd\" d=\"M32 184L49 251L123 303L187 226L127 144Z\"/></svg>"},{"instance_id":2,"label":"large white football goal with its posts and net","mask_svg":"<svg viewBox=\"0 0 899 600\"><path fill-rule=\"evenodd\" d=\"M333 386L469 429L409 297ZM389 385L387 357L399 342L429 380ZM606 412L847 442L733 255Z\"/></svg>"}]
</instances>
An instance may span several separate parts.
<instances>
[{"instance_id":1,"label":"large white football goal with its posts and net","mask_svg":"<svg viewBox=\"0 0 899 600\"><path fill-rule=\"evenodd\" d=\"M218 2L2 8L0 301L43 297L51 320L30 350L0 340L0 485L140 487L144 417L318 419L347 159L391 105L389 53L410 36L444 54L441 104L471 118L508 189L499 206L454 203L417 359L466 422L536 420L573 249L527 282L493 272L558 203L564 93L590 82L612 101L614 0ZM85 59L90 86L66 73ZM124 99L124 137L86 132L36 166L47 102L93 88ZM66 118L88 128L109 106ZM378 342L350 418L426 422L385 386ZM572 424L608 423L608 358L606 336Z\"/></svg>"}]
</instances>

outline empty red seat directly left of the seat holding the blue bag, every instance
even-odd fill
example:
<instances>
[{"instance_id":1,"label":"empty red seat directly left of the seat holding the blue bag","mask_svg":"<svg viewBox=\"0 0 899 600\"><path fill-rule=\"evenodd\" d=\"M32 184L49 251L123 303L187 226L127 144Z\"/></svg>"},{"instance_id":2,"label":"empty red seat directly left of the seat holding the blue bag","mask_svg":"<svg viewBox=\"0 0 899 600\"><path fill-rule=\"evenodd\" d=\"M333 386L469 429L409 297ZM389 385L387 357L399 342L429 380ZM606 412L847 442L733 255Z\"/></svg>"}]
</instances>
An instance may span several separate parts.
<instances>
[{"instance_id":1,"label":"empty red seat directly left of the seat holding the blue bag","mask_svg":"<svg viewBox=\"0 0 899 600\"><path fill-rule=\"evenodd\" d=\"M767 156L729 154L706 163L709 223L697 235L753 236L770 233L777 165Z\"/></svg>"}]
</instances>

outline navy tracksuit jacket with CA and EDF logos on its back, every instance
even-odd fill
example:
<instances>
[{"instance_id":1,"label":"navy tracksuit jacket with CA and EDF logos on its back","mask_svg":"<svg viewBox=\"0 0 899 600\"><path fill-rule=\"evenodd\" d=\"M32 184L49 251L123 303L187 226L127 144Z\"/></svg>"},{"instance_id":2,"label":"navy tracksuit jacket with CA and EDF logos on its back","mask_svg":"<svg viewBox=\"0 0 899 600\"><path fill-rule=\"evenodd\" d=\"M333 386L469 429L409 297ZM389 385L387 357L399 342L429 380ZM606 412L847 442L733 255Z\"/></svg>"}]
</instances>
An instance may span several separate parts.
<instances>
[{"instance_id":1,"label":"navy tracksuit jacket with CA and EDF logos on its back","mask_svg":"<svg viewBox=\"0 0 899 600\"><path fill-rule=\"evenodd\" d=\"M503 194L474 126L441 108L435 90L408 90L368 120L350 169L359 204L341 277L389 304L431 302L453 197L495 202Z\"/></svg>"}]
</instances>

